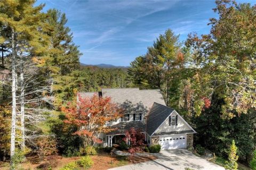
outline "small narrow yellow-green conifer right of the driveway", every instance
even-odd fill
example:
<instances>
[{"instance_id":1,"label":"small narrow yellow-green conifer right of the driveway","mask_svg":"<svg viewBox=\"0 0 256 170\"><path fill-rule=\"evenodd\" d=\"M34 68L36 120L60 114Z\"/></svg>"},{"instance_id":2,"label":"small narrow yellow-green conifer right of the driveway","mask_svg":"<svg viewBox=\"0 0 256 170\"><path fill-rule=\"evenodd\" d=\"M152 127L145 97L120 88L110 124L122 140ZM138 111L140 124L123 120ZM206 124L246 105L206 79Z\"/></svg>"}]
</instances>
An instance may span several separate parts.
<instances>
[{"instance_id":1,"label":"small narrow yellow-green conifer right of the driveway","mask_svg":"<svg viewBox=\"0 0 256 170\"><path fill-rule=\"evenodd\" d=\"M236 155L236 151L237 151L237 147L235 145L235 140L232 140L232 144L230 146L229 155L228 155L229 162L227 162L226 163L227 165L225 166L226 169L237 170L238 156Z\"/></svg>"}]
</instances>

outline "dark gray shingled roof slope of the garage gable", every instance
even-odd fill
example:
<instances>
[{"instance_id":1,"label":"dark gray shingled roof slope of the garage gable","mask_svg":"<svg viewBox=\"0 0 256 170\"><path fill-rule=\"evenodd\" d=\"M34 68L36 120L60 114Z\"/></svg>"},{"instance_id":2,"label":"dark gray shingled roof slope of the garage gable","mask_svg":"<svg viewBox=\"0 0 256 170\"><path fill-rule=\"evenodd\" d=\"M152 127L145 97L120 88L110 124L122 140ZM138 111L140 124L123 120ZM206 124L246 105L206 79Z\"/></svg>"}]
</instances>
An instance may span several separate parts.
<instances>
[{"instance_id":1,"label":"dark gray shingled roof slope of the garage gable","mask_svg":"<svg viewBox=\"0 0 256 170\"><path fill-rule=\"evenodd\" d=\"M173 111L170 107L154 103L148 114L146 132L151 136Z\"/></svg>"}]
</instances>

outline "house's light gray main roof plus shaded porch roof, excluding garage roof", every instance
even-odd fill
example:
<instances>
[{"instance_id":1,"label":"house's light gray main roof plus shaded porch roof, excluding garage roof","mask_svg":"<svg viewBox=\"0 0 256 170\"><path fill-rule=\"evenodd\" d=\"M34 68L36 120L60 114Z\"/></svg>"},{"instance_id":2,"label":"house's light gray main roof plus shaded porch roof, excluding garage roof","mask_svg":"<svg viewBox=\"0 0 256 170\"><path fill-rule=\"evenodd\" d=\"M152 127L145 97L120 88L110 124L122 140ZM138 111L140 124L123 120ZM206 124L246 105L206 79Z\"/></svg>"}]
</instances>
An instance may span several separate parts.
<instances>
[{"instance_id":1,"label":"house's light gray main roof plus shaded porch roof, excluding garage roof","mask_svg":"<svg viewBox=\"0 0 256 170\"><path fill-rule=\"evenodd\" d=\"M111 101L119 104L119 106L125 109L125 113L128 114L143 113L145 115L154 103L165 106L164 98L158 89L140 90L139 88L117 88L102 89L101 91L103 97L111 97ZM81 97L92 97L94 94L98 95L98 92L79 92L78 94ZM120 122L113 125L113 127L117 128L117 130L108 134L123 134L132 127L146 132L146 118L143 121Z\"/></svg>"}]
</instances>

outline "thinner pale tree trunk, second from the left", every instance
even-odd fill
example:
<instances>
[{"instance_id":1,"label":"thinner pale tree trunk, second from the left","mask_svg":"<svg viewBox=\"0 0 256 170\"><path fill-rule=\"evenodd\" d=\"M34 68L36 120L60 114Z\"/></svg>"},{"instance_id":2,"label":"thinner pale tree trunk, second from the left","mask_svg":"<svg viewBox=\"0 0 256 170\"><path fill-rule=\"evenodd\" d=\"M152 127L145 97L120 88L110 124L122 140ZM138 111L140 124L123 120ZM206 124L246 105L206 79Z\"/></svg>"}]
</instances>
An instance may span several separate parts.
<instances>
[{"instance_id":1,"label":"thinner pale tree trunk, second from the left","mask_svg":"<svg viewBox=\"0 0 256 170\"><path fill-rule=\"evenodd\" d=\"M22 58L21 58L22 59ZM24 70L23 63L21 60L20 64L20 125L21 125L21 150L25 150L25 103L24 103Z\"/></svg>"}]
</instances>

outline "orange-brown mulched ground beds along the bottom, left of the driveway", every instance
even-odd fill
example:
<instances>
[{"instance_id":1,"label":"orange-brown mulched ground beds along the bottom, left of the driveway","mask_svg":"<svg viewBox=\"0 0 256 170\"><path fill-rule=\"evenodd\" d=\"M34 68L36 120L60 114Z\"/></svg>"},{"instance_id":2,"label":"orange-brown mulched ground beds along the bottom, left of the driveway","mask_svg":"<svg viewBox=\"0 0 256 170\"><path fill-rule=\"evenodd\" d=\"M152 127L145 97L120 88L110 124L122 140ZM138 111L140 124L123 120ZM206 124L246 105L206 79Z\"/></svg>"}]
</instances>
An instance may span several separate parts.
<instances>
[{"instance_id":1,"label":"orange-brown mulched ground beds along the bottom, left of the driveway","mask_svg":"<svg viewBox=\"0 0 256 170\"><path fill-rule=\"evenodd\" d=\"M98 155L93 155L90 157L94 162L93 166L89 168L91 170L92 169L105 170L112 167L124 166L128 164L133 164L133 163L147 162L149 160L157 159L154 156L150 156L150 157L135 156L131 162L128 157L116 156L116 155L111 156L109 153L106 153L106 152L101 152ZM61 167L68 165L69 163L77 162L79 159L81 159L81 157L62 157L62 156L51 157L50 156L50 162L52 165L54 165L51 169L53 170L60 169ZM49 159L47 161L47 158L42 163L38 163L37 157L30 156L27 158L27 161L25 163L21 164L21 167L25 170L26 169L49 169L49 167L46 168L47 164L49 164ZM9 163L0 162L0 169L1 170L9 169Z\"/></svg>"}]
</instances>

